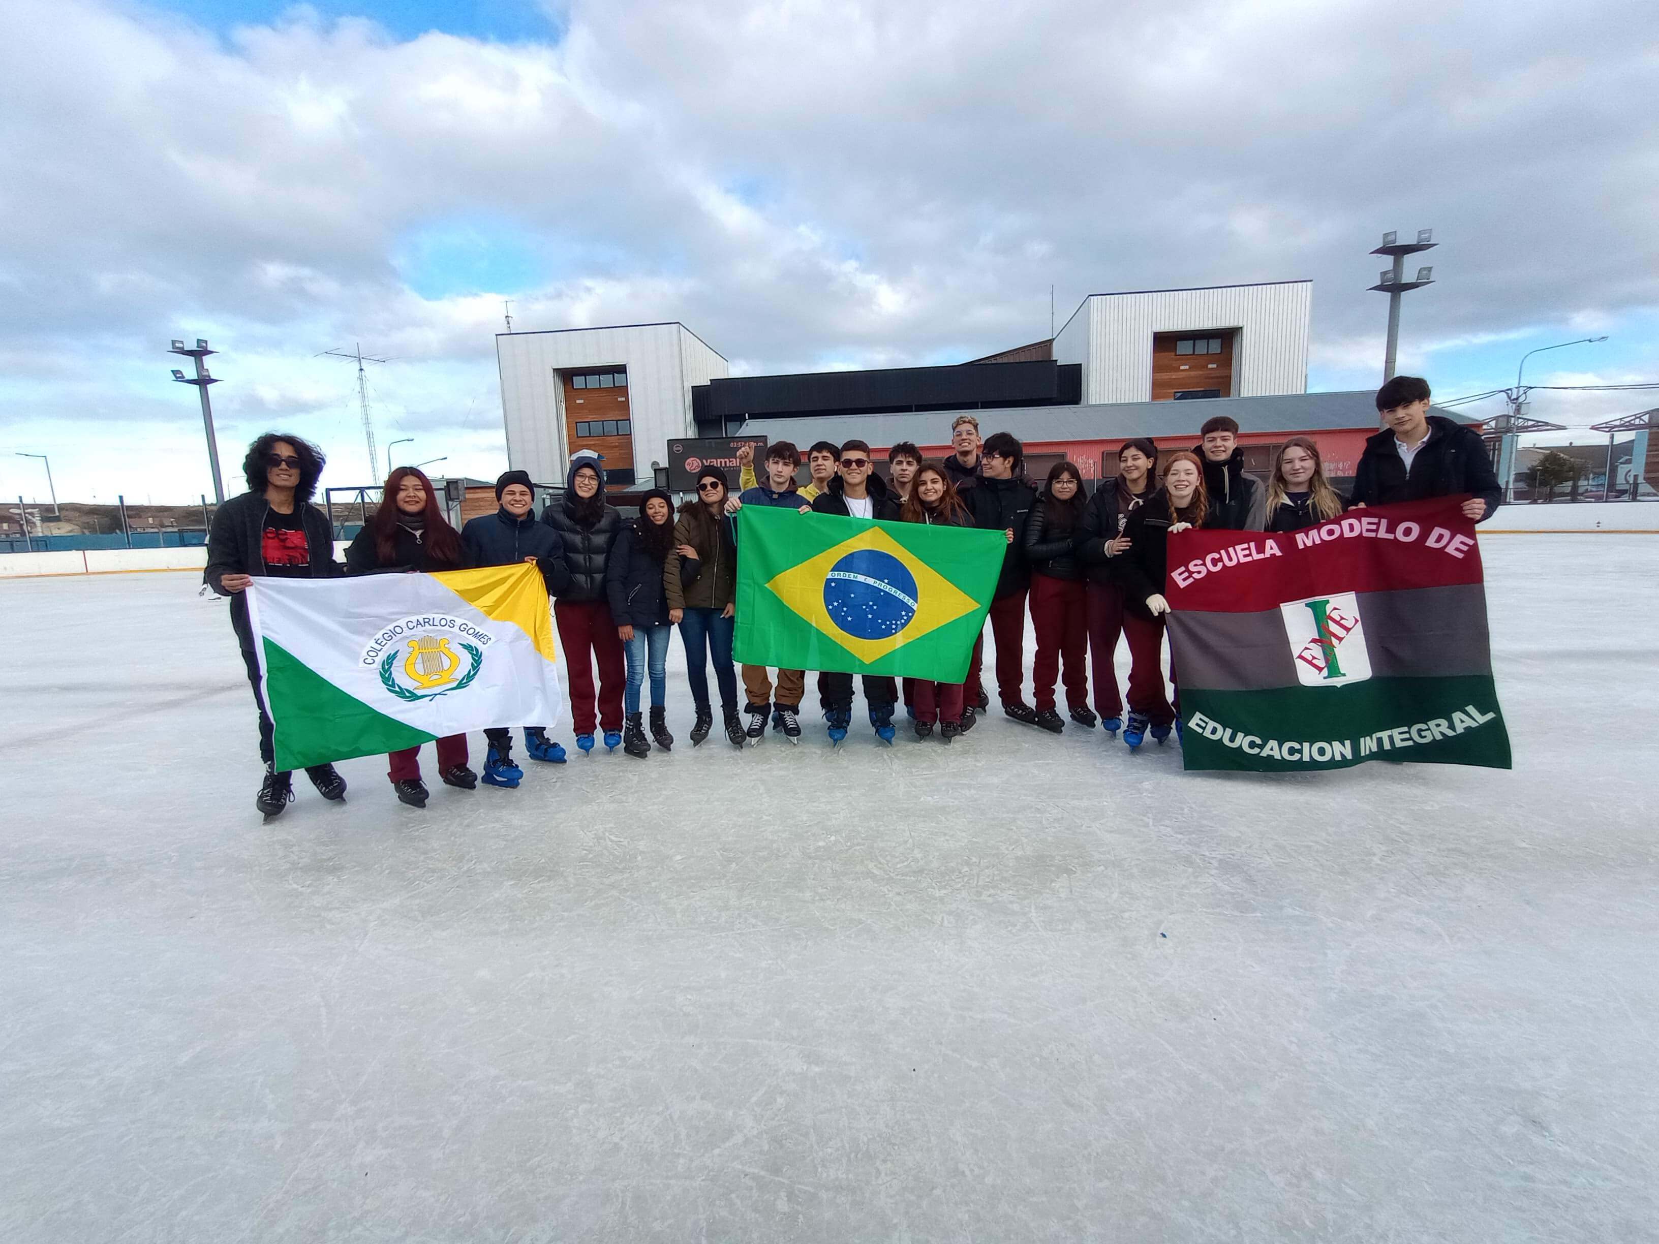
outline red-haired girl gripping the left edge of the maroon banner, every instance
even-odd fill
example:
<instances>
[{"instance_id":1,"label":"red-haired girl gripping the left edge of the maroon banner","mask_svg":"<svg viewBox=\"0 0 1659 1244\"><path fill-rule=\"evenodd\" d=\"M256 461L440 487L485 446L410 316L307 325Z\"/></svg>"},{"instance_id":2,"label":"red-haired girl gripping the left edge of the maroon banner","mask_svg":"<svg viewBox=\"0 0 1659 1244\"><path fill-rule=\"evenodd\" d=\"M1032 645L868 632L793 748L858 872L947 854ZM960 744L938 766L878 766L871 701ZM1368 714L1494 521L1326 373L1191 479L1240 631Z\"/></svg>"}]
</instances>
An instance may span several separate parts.
<instances>
[{"instance_id":1,"label":"red-haired girl gripping the left edge of the maroon banner","mask_svg":"<svg viewBox=\"0 0 1659 1244\"><path fill-rule=\"evenodd\" d=\"M1148 730L1163 743L1175 725L1175 707L1163 688L1163 597L1168 572L1168 539L1186 527L1209 526L1209 494L1198 454L1170 454L1163 488L1130 514L1125 534L1130 547L1117 557L1123 582L1123 635L1130 642L1130 722L1123 741L1138 748ZM1171 667L1173 673L1173 667Z\"/></svg>"}]
</instances>

